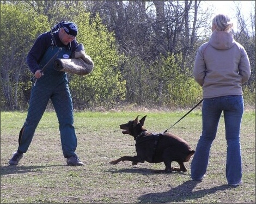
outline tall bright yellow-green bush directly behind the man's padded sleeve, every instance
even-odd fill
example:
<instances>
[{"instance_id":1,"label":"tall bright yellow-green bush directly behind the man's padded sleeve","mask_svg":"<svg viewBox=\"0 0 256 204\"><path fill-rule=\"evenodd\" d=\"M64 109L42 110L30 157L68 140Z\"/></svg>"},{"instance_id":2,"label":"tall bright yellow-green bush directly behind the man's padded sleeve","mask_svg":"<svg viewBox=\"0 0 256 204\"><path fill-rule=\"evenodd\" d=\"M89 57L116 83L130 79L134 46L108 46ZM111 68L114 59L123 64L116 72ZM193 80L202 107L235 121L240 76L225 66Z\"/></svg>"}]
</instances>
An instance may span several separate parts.
<instances>
[{"instance_id":1,"label":"tall bright yellow-green bush directly behind the man's padded sleeve","mask_svg":"<svg viewBox=\"0 0 256 204\"><path fill-rule=\"evenodd\" d=\"M89 75L71 76L74 103L83 109L123 100L125 81L119 70L122 56L118 55L113 33L103 26L99 16L90 23L89 14L80 12L74 21L78 26L77 40L94 61L94 69Z\"/></svg>"}]
</instances>

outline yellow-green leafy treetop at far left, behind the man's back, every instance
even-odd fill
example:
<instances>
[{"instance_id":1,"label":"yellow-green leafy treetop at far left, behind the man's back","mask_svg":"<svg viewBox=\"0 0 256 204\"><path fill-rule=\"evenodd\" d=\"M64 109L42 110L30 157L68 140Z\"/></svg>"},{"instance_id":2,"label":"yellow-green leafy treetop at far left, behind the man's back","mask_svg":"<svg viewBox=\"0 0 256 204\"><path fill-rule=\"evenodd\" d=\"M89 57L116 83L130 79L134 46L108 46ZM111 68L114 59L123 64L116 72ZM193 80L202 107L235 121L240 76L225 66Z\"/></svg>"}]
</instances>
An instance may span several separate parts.
<instances>
[{"instance_id":1,"label":"yellow-green leafy treetop at far left, behind the man's back","mask_svg":"<svg viewBox=\"0 0 256 204\"><path fill-rule=\"evenodd\" d=\"M22 5L1 4L1 57L14 54L15 60L24 57L37 35L48 29L47 18ZM17 44L16 39L19 39Z\"/></svg>"}]
</instances>

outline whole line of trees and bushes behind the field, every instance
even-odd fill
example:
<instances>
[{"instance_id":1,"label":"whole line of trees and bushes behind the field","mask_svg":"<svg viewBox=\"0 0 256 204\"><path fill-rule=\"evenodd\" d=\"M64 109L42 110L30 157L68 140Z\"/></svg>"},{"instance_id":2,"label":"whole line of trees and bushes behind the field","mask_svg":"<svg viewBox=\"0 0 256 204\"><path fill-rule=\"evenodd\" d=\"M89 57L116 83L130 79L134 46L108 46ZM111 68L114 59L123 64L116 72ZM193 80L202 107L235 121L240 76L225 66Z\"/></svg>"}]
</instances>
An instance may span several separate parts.
<instances>
[{"instance_id":1,"label":"whole line of trees and bushes behind the field","mask_svg":"<svg viewBox=\"0 0 256 204\"><path fill-rule=\"evenodd\" d=\"M252 1L254 2L254 1ZM60 21L78 26L77 41L94 61L87 76L68 73L74 108L186 108L202 99L192 69L208 41L214 12L205 1L1 1L1 110L26 110L32 73L26 56L37 36ZM251 62L243 85L255 104L255 2L237 5L235 40Z\"/></svg>"}]
</instances>

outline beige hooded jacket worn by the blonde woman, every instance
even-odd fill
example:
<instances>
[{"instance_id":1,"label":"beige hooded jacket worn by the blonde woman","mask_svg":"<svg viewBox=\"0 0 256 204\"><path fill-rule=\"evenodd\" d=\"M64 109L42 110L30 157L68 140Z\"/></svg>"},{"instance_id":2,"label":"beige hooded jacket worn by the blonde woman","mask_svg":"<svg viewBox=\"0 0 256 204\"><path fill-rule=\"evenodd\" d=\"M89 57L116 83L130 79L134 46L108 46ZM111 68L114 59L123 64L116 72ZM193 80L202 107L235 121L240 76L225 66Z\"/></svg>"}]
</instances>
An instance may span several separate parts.
<instances>
[{"instance_id":1,"label":"beige hooded jacket worn by the blonde woman","mask_svg":"<svg viewBox=\"0 0 256 204\"><path fill-rule=\"evenodd\" d=\"M198 49L194 79L203 88L203 98L242 95L242 84L251 76L248 55L233 35L213 32Z\"/></svg>"}]
</instances>

